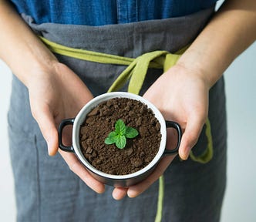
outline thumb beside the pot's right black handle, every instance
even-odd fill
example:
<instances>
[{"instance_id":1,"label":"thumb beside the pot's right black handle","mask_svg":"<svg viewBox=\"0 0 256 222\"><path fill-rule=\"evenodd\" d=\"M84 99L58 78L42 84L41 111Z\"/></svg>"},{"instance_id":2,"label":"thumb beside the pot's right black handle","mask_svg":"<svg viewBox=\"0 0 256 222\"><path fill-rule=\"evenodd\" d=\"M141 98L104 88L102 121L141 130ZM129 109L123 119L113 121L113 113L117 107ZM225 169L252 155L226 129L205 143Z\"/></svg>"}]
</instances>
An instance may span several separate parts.
<instances>
[{"instance_id":1,"label":"thumb beside the pot's right black handle","mask_svg":"<svg viewBox=\"0 0 256 222\"><path fill-rule=\"evenodd\" d=\"M182 160L187 160L190 150L196 145L204 120L194 117L187 121L184 135L181 138L179 155Z\"/></svg>"}]
</instances>

